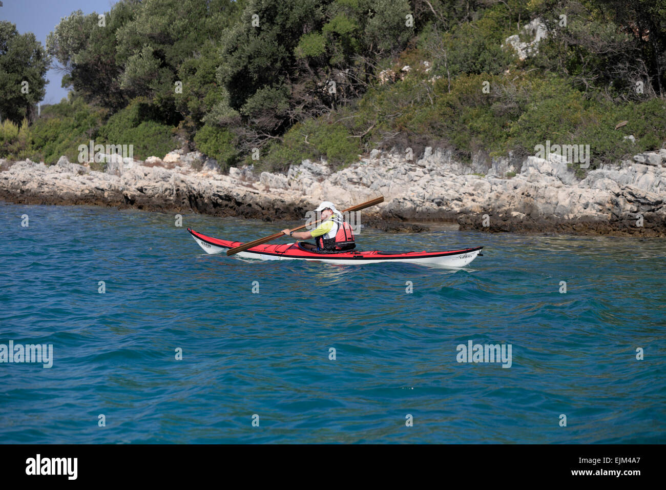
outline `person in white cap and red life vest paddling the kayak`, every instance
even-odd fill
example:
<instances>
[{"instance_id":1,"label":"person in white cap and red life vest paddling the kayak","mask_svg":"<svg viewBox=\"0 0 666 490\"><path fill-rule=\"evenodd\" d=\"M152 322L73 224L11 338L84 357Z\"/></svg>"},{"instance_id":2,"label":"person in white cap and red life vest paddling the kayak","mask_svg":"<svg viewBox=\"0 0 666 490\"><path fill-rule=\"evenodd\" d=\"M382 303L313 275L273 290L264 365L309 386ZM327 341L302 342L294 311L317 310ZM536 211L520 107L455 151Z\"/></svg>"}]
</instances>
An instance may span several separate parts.
<instances>
[{"instance_id":1,"label":"person in white cap and red life vest paddling the kayak","mask_svg":"<svg viewBox=\"0 0 666 490\"><path fill-rule=\"evenodd\" d=\"M314 238L315 245L312 243L299 243L298 245L316 252L334 253L352 250L356 247L352 227L344 221L342 213L335 209L332 202L323 201L314 211L321 213L321 219L324 220L314 230L289 233L289 229L286 228L282 230L282 233L300 240Z\"/></svg>"}]
</instances>

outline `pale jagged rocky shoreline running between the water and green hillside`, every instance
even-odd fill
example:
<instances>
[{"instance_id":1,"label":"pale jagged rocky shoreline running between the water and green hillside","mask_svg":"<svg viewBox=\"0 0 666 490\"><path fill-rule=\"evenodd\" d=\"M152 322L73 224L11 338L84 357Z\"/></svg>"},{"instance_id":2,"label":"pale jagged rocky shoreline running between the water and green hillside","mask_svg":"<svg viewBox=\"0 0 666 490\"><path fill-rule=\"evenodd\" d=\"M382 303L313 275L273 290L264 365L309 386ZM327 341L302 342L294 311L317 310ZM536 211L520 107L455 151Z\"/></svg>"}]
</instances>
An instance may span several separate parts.
<instances>
[{"instance_id":1,"label":"pale jagged rocky shoreline running between the water and green hillside","mask_svg":"<svg viewBox=\"0 0 666 490\"><path fill-rule=\"evenodd\" d=\"M340 171L303 161L286 174L251 168L218 172L197 152L125 159L105 171L0 160L0 199L13 203L102 205L147 211L300 220L322 200L340 209L383 195L362 223L386 231L422 231L418 222L460 229L666 237L666 150L604 165L585 179L559 155L548 159L474 159L426 148L420 159L373 151ZM257 175L258 174L258 175Z\"/></svg>"}]
</instances>

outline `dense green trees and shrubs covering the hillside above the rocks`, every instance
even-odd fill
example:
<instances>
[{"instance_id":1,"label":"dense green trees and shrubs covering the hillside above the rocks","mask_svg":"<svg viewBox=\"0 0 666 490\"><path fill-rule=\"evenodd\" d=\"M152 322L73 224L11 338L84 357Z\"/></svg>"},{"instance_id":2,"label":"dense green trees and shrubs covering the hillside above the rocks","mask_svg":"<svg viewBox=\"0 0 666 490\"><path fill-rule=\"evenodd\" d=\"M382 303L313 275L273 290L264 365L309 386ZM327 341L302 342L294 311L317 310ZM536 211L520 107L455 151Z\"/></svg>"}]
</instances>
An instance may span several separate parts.
<instances>
[{"instance_id":1,"label":"dense green trees and shrubs covering the hillside above the rocks","mask_svg":"<svg viewBox=\"0 0 666 490\"><path fill-rule=\"evenodd\" d=\"M521 59L505 39L531 41L533 19L547 37ZM49 61L71 93L37 118ZM589 144L594 168L666 141L665 69L666 0L121 0L63 18L46 50L0 23L0 156L54 163L94 139L285 169L550 140Z\"/></svg>"}]
</instances>

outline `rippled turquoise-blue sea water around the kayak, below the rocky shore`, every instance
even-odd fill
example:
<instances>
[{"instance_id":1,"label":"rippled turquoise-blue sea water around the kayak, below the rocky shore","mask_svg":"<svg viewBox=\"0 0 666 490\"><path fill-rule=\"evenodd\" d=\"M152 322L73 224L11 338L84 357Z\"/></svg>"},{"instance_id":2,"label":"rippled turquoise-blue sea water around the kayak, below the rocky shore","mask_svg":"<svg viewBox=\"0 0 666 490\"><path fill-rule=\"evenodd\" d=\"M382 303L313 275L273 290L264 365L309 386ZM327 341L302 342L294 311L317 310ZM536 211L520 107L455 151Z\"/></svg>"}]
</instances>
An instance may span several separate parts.
<instances>
[{"instance_id":1,"label":"rippled turquoise-blue sea water around the kayak, below the rocky shore","mask_svg":"<svg viewBox=\"0 0 666 490\"><path fill-rule=\"evenodd\" d=\"M50 369L0 363L2 443L666 442L663 239L358 237L485 246L449 271L246 263L185 230L288 223L5 203L0 222L0 344L53 345ZM458 363L470 340L511 344L511 367Z\"/></svg>"}]
</instances>

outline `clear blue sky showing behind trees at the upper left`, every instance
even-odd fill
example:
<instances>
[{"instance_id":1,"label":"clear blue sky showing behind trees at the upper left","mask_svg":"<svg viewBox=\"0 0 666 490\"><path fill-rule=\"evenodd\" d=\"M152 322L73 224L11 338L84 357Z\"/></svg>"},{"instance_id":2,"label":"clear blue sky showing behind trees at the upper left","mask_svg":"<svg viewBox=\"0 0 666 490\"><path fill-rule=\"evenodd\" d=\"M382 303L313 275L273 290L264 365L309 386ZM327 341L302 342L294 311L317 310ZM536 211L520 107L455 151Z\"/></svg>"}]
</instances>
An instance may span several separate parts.
<instances>
[{"instance_id":1,"label":"clear blue sky showing behind trees at the upper left","mask_svg":"<svg viewBox=\"0 0 666 490\"><path fill-rule=\"evenodd\" d=\"M47 35L55 29L61 17L79 9L85 14L108 12L116 0L2 0L1 3L0 20L14 23L21 34L35 34L37 40L45 45ZM43 104L55 104L67 97L67 90L60 86L62 72L51 69L46 77L49 84Z\"/></svg>"}]
</instances>

